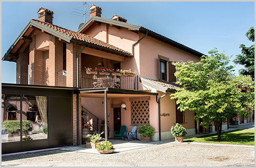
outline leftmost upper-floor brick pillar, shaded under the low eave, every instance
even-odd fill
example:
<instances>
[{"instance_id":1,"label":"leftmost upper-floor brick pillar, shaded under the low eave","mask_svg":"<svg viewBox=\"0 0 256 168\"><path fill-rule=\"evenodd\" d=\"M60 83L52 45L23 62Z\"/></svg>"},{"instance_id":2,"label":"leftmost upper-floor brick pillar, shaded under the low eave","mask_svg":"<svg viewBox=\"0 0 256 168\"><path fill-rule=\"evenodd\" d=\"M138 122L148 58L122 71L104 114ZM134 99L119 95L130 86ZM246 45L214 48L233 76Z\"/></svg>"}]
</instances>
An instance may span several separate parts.
<instances>
[{"instance_id":1,"label":"leftmost upper-floor brick pillar, shaded under the low eave","mask_svg":"<svg viewBox=\"0 0 256 168\"><path fill-rule=\"evenodd\" d=\"M28 53L19 52L18 59L16 61L16 83L17 84L28 84L28 65L29 65Z\"/></svg>"}]
</instances>

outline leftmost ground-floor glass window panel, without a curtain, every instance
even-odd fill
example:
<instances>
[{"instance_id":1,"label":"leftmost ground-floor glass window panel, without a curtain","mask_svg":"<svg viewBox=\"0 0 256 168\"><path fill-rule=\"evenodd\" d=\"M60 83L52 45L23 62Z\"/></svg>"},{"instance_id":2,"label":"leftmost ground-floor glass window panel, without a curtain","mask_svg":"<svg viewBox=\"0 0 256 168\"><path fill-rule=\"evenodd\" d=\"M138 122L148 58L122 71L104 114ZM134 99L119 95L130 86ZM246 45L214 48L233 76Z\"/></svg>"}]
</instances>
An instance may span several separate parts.
<instances>
[{"instance_id":1,"label":"leftmost ground-floor glass window panel, without a curtain","mask_svg":"<svg viewBox=\"0 0 256 168\"><path fill-rule=\"evenodd\" d=\"M20 141L20 95L2 94L2 143Z\"/></svg>"}]
</instances>

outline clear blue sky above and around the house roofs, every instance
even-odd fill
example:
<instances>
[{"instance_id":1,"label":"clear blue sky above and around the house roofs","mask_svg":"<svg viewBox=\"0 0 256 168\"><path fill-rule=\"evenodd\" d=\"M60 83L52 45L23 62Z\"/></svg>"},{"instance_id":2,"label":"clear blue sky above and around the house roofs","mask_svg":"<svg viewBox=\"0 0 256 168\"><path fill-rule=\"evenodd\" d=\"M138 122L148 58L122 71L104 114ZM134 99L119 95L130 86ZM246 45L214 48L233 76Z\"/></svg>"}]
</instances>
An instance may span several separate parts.
<instances>
[{"instance_id":1,"label":"clear blue sky above and around the house roofs","mask_svg":"<svg viewBox=\"0 0 256 168\"><path fill-rule=\"evenodd\" d=\"M87 2L87 12L92 4L102 8L101 17L110 19L117 14L128 23L205 54L217 47L219 52L233 55L233 60L241 52L240 44L253 44L245 33L254 27L254 2ZM29 20L37 19L39 7L54 11L53 24L77 31L84 18L70 13L83 10L80 5L82 2L2 2L2 57ZM236 65L236 75L241 68ZM16 63L2 62L2 82L16 82Z\"/></svg>"}]
</instances>

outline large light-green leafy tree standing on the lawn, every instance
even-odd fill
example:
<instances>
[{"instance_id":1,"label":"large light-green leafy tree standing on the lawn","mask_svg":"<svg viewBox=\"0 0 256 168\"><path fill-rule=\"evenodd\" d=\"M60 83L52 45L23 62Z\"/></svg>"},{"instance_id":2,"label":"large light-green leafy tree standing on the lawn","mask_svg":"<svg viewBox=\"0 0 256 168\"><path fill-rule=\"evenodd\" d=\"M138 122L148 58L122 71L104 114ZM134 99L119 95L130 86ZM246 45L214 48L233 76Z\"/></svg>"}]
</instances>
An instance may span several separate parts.
<instances>
[{"instance_id":1,"label":"large light-green leafy tree standing on the lawn","mask_svg":"<svg viewBox=\"0 0 256 168\"><path fill-rule=\"evenodd\" d=\"M250 114L244 107L254 107L254 83L250 76L234 77L233 66L228 66L230 57L224 53L218 53L216 48L208 53L197 63L173 63L182 88L170 98L177 100L181 111L189 109L195 113L195 120L202 119L201 126L208 127L213 122L220 139L222 123L227 118ZM242 92L241 87L250 88L250 92Z\"/></svg>"}]
</instances>

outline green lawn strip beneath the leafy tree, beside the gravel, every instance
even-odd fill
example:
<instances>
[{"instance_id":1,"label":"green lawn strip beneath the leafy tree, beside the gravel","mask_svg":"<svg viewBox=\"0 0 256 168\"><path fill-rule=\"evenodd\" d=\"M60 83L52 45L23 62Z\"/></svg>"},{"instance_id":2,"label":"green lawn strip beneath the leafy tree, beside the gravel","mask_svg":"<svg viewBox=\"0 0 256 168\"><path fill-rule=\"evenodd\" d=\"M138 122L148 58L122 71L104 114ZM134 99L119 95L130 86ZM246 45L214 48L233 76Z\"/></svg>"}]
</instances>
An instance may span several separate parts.
<instances>
[{"instance_id":1,"label":"green lawn strip beneath the leafy tree, beside the gravel","mask_svg":"<svg viewBox=\"0 0 256 168\"><path fill-rule=\"evenodd\" d=\"M184 139L184 142L254 145L254 129L236 129L222 132L220 141L218 141L217 133L215 133Z\"/></svg>"}]
</instances>

